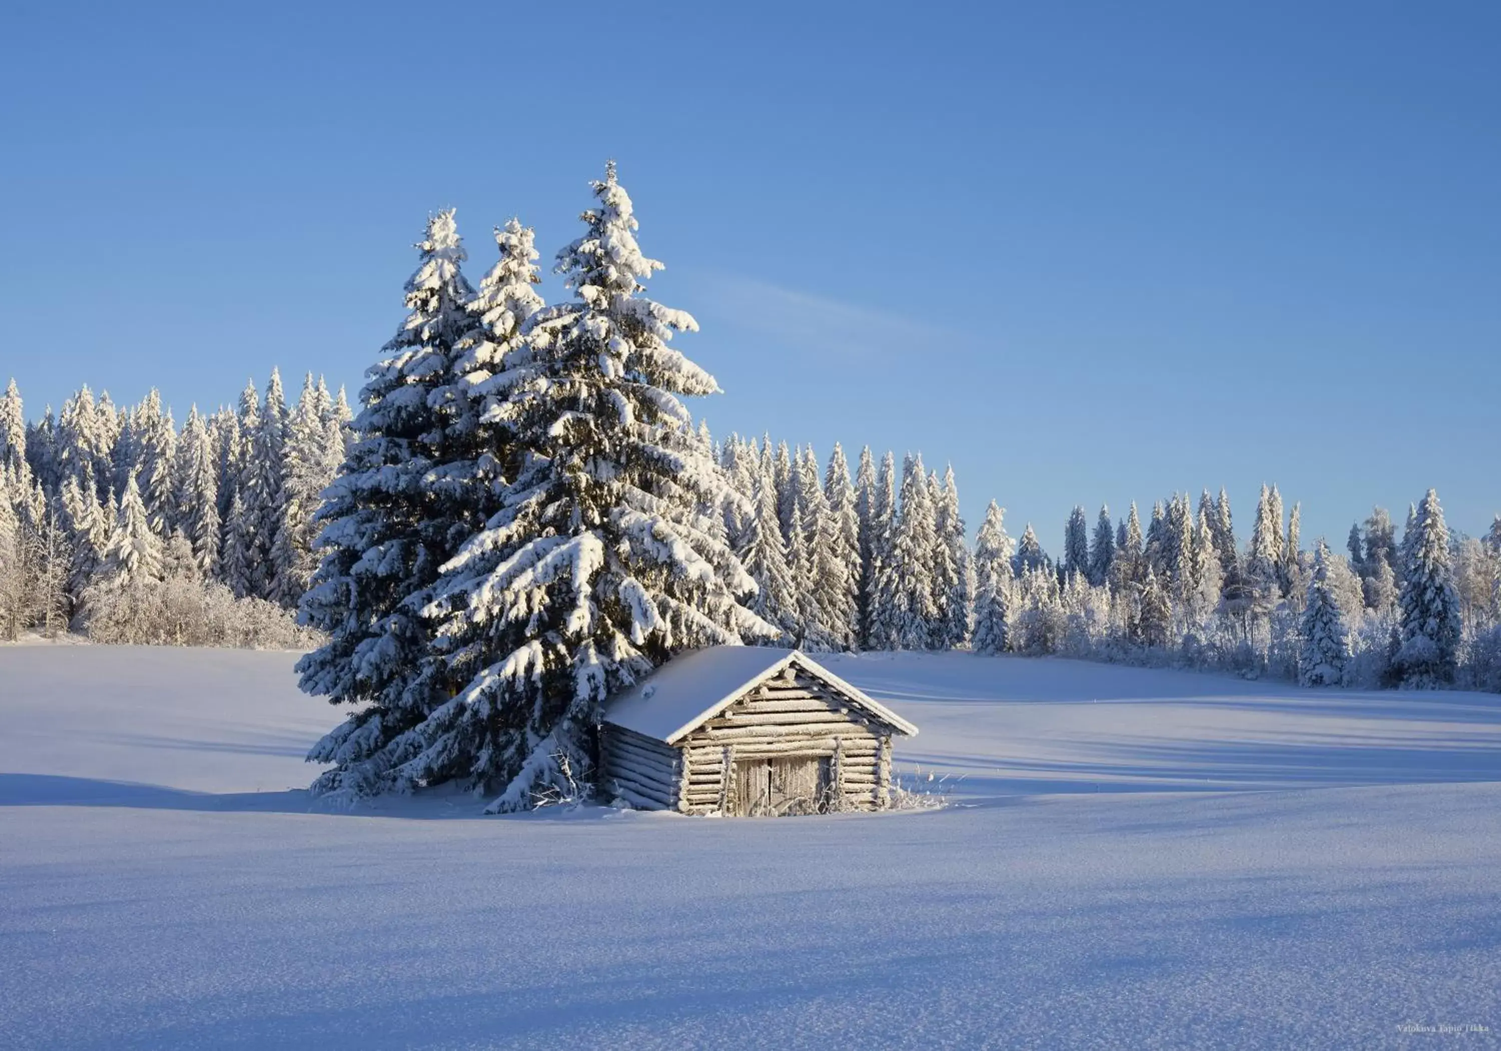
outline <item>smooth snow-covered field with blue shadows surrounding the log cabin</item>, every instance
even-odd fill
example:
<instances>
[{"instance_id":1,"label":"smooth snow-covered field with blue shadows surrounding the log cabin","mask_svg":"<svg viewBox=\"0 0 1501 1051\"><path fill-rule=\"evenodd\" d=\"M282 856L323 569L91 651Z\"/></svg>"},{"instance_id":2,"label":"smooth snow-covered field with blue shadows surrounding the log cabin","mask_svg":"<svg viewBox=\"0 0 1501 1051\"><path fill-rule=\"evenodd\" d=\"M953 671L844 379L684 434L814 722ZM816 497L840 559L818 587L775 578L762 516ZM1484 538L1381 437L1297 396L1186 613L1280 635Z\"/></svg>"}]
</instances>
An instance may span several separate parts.
<instances>
[{"instance_id":1,"label":"smooth snow-covered field with blue shadows surrounding the log cabin","mask_svg":"<svg viewBox=\"0 0 1501 1051\"><path fill-rule=\"evenodd\" d=\"M330 814L293 661L0 647L0 1046L1501 1042L1501 697L835 658L956 805Z\"/></svg>"}]
</instances>

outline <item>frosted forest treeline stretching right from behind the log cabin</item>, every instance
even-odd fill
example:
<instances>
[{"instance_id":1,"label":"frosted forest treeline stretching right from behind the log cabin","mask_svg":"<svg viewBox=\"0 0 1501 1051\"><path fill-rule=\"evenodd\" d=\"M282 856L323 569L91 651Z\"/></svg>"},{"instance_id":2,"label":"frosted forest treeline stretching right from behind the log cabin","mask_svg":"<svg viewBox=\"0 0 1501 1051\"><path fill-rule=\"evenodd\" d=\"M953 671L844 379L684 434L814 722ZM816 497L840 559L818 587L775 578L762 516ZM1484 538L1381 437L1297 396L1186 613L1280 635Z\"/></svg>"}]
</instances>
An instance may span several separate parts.
<instances>
[{"instance_id":1,"label":"frosted forest treeline stretching right from behind the log cabin","mask_svg":"<svg viewBox=\"0 0 1501 1051\"><path fill-rule=\"evenodd\" d=\"M707 435L702 437L707 441ZM1300 507L1262 486L1241 547L1229 497L1207 489L1093 522L1075 507L1060 557L1031 524L1019 541L994 501L974 547L953 471L907 456L851 479L835 447L820 485L812 447L731 437L720 464L749 512L725 529L760 590L752 607L805 649L1066 655L1171 664L1307 685L1501 689L1501 516L1483 539L1450 533L1438 495L1402 539L1373 509L1348 557L1300 544Z\"/></svg>"}]
</instances>

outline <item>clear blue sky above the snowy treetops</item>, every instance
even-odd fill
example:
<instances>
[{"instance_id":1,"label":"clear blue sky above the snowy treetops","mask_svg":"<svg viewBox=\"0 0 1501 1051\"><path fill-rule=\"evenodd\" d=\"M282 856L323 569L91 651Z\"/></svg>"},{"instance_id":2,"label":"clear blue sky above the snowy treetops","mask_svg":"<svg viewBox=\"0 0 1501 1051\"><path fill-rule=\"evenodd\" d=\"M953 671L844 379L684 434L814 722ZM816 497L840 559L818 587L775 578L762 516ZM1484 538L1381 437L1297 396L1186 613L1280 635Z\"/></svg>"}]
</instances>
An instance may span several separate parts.
<instances>
[{"instance_id":1,"label":"clear blue sky above the snowy treetops","mask_svg":"<svg viewBox=\"0 0 1501 1051\"><path fill-rule=\"evenodd\" d=\"M1478 533L1498 54L1493 3L17 6L0 383L353 395L429 210L549 261L614 156L716 434L952 459L1051 551L1262 480L1304 542L1429 485Z\"/></svg>"}]
</instances>

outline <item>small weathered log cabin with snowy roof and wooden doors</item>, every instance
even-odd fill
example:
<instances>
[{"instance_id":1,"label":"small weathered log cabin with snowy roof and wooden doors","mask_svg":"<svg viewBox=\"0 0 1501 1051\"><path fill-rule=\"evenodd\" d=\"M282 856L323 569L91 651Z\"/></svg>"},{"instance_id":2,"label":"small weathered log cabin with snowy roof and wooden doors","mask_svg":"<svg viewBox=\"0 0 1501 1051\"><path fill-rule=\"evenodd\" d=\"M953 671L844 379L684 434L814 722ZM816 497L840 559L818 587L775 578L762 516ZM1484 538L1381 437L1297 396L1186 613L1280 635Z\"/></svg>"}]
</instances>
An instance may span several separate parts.
<instances>
[{"instance_id":1,"label":"small weathered log cabin with snowy roof and wooden doors","mask_svg":"<svg viewBox=\"0 0 1501 1051\"><path fill-rule=\"evenodd\" d=\"M599 790L725 817L884 809L892 737L917 727L799 650L681 653L603 709Z\"/></svg>"}]
</instances>

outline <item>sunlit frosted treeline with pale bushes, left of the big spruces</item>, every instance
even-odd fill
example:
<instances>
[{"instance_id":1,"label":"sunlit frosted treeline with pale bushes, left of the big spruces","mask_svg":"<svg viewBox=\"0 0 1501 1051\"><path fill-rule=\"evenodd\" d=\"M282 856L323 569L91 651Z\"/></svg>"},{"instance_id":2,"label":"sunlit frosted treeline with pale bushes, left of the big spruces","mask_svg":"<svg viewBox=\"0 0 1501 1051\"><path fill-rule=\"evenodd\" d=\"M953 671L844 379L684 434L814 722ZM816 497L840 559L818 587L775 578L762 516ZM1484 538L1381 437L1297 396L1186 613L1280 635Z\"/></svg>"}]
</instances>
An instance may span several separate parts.
<instances>
[{"instance_id":1,"label":"sunlit frosted treeline with pale bushes, left of the big spruces","mask_svg":"<svg viewBox=\"0 0 1501 1051\"><path fill-rule=\"evenodd\" d=\"M120 410L84 386L27 423L0 398L0 637L68 628L98 641L306 644L297 601L314 515L345 453L350 410L306 378L288 405L194 407L179 431L153 389Z\"/></svg>"}]
</instances>

